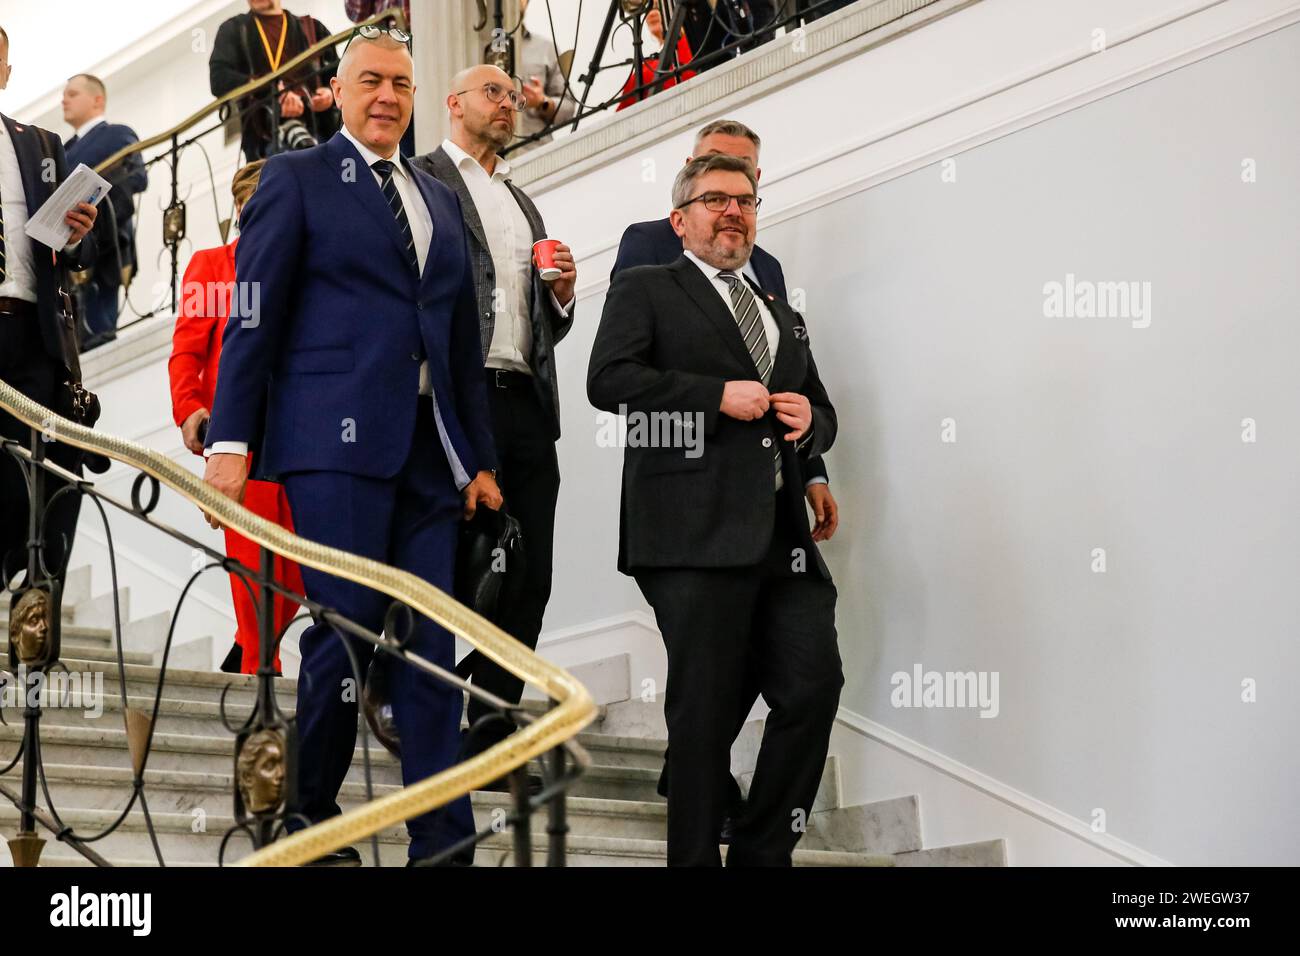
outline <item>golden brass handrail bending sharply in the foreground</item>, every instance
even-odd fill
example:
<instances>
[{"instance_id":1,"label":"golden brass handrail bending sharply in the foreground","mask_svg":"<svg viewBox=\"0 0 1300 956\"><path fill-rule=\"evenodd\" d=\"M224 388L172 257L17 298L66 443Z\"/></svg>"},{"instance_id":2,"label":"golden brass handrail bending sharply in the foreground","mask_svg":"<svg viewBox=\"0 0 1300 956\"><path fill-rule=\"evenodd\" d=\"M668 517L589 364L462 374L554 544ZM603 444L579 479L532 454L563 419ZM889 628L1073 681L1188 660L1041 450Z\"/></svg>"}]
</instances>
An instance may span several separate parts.
<instances>
[{"instance_id":1,"label":"golden brass handrail bending sharply in the foreground","mask_svg":"<svg viewBox=\"0 0 1300 956\"><path fill-rule=\"evenodd\" d=\"M499 627L428 581L377 561L298 537L278 524L259 518L157 451L60 418L4 381L0 381L0 408L29 428L51 434L55 441L99 453L152 476L261 548L402 601L558 701L555 708L537 721L477 757L341 817L300 830L244 857L238 865L295 866L315 860L385 827L442 806L508 774L530 758L571 740L595 717L592 695L572 675L543 661Z\"/></svg>"}]
</instances>

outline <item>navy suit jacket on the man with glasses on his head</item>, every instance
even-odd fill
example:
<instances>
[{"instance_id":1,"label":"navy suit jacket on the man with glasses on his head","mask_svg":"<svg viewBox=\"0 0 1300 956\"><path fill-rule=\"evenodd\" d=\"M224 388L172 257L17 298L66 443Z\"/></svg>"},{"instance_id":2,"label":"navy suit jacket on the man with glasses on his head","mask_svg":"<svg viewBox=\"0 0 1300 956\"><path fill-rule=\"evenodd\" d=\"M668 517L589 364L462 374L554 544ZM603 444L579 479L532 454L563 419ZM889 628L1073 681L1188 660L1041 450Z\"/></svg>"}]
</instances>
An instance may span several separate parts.
<instances>
[{"instance_id":1,"label":"navy suit jacket on the man with glasses on his head","mask_svg":"<svg viewBox=\"0 0 1300 956\"><path fill-rule=\"evenodd\" d=\"M239 221L208 428L209 447L248 442L255 477L387 479L413 441L441 444L458 484L497 467L460 204L407 169L433 219L419 278L373 173L342 133L263 168ZM439 429L417 436L424 359Z\"/></svg>"}]
</instances>

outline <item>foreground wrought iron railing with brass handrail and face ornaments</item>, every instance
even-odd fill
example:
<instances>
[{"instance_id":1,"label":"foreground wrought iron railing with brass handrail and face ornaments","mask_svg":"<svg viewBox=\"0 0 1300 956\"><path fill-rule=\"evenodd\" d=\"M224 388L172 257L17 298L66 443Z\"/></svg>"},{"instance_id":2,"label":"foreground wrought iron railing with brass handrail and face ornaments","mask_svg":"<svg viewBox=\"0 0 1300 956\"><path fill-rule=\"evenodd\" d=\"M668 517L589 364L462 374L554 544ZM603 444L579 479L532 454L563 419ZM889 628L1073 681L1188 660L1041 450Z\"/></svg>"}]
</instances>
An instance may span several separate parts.
<instances>
[{"instance_id":1,"label":"foreground wrought iron railing with brass handrail and face ornaments","mask_svg":"<svg viewBox=\"0 0 1300 956\"><path fill-rule=\"evenodd\" d=\"M246 747L252 748L250 756L257 748L261 748L257 753L263 757L266 757L265 752L270 750L268 761L270 770L274 771L272 779L278 774L283 783L278 791L272 788L273 800L259 797L254 801L247 799L246 790L240 787L239 775L235 774L231 782L235 818L221 842L217 862L226 862L226 849L238 834L247 836L255 848L255 852L239 860L238 865L268 866L308 862L378 834L385 827L445 806L451 800L468 795L489 782L508 777L514 796L512 809L503 818L498 816L493 826L467 836L456 845L445 848L437 857L425 862L436 864L451 858L468 847L489 839L502 829L512 827L516 865L532 865L532 817L546 809L547 862L556 866L563 865L567 834L566 791L589 765L586 753L575 737L595 715L595 705L590 695L569 674L537 657L504 631L415 575L298 537L220 494L165 455L58 418L49 408L30 401L4 381L0 381L0 410L13 415L30 429L30 442L26 446L12 440L4 440L0 445L0 453L12 458L22 470L29 496L27 548L22 555L26 559L25 579L21 588L22 594L14 607L14 619L10 622L20 641L27 641L26 645L16 644L13 652L20 658L13 678L23 692L23 735L12 758L0 754L0 795L8 797L20 810L18 834L9 842L16 864L36 865L44 843L36 831L39 825L91 862L101 866L109 865L109 861L95 851L94 844L117 831L138 805L157 862L165 865L156 827L150 814L146 774L155 728L162 713L168 659L172 653L179 609L203 574L220 570L237 575L250 589L260 589L257 592L257 610L261 636L261 659L256 674L256 702L252 713L242 723L231 722L226 713L225 696L222 696L222 722L228 731L234 735L233 756L235 761L238 762ZM92 481L51 462L48 450L58 446L103 455L134 470L136 475L131 484L130 501L107 494ZM261 549L260 567L246 567L185 532L157 520L155 511L164 488L259 545ZM94 502L104 524L114 594L112 630L117 650L118 688L131 756L130 799L109 826L94 834L79 832L75 827L69 826L58 812L58 804L51 791L42 762L42 696L39 692L30 693L34 688L39 691L49 675L57 672L61 666L60 620L61 572L64 568L48 566L47 524L53 509L68 496ZM5 502L5 506L13 507L14 502ZM161 652L152 713L133 706L126 692L129 675L125 663L121 609L117 606L116 597L118 593L116 553L105 506L183 542L195 549L196 554L202 553L208 558L208 563L191 575L178 594L172 627ZM56 564L65 564L66 554L70 551L69 542L61 544L58 550L64 557L61 562L56 561ZM276 580L274 555L373 588L393 598L394 604L387 614L385 632L374 633L329 607L285 589ZM6 568L5 584L8 580L9 571ZM0 593L3 593L3 587L0 587ZM377 649L376 653L384 654L394 666L416 667L455 688L455 691L465 692L482 701L491 709L491 713L482 718L482 722L508 721L517 726L517 730L504 741L434 777L403 787L389 796L373 799L369 761L370 737L365 721L361 721L367 803L333 819L289 834L286 827L295 819L292 770L296 743L294 718L286 715L276 700L274 659L278 643L283 637L283 632L276 633L273 623L277 594L291 598L306 607L317 620L333 626L335 637L347 648L352 661L355 687L364 685L365 675L348 645L350 637L373 644ZM42 617L38 617L38 611L32 610L36 605L42 605L39 611ZM456 674L412 653L406 646L408 628L402 626L411 614L424 615L441 624L506 670L541 688L554 702L554 706L540 717L534 717L523 706L486 693L462 680ZM30 630L25 630L27 623L31 623ZM40 636L42 624L44 637ZM471 728L471 732L473 730ZM277 749L278 753L276 753ZM537 793L529 793L525 767L534 758L542 758L542 788ZM22 765L21 790L16 792L3 780L20 763ZM44 808L40 805L40 796L44 797ZM298 818L298 821L309 823L306 818ZM377 843L373 847L377 864Z\"/></svg>"}]
</instances>

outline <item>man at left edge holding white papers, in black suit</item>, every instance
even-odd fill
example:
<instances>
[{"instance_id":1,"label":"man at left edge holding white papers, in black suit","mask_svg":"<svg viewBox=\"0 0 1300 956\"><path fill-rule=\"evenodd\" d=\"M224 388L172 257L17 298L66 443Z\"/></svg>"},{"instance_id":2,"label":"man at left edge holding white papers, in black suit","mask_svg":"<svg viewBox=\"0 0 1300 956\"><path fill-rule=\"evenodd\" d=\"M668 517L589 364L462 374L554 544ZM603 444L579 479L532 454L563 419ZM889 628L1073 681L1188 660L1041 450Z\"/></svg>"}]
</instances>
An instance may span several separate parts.
<instances>
[{"instance_id":1,"label":"man at left edge holding white papers, in black suit","mask_svg":"<svg viewBox=\"0 0 1300 956\"><path fill-rule=\"evenodd\" d=\"M9 36L0 27L0 90L9 85ZM53 160L55 176L44 176L47 160ZM34 402L62 410L61 397L68 381L64 336L75 329L61 328L60 286L66 268L81 269L95 259L95 207L79 204L68 213L72 235L68 245L53 252L27 237L23 228L66 177L64 146L53 133L14 122L0 113L0 380ZM6 412L0 412L0 436L29 445L31 429ZM66 445L51 444L49 459L79 473L81 453ZM64 483L44 479L43 499L48 501ZM79 497L65 494L47 516L46 563L61 579L68 566L73 533L77 529ZM18 463L0 454L0 561L4 564L0 589L27 566L27 485Z\"/></svg>"}]
</instances>

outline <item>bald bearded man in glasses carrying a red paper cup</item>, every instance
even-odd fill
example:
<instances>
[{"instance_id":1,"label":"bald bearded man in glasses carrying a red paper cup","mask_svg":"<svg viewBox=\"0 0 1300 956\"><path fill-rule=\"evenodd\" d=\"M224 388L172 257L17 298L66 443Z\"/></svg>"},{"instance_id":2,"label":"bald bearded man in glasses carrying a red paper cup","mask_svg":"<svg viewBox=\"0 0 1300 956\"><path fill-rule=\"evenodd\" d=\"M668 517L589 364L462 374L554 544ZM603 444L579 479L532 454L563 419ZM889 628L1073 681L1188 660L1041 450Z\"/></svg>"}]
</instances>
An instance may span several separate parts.
<instances>
[{"instance_id":1,"label":"bald bearded man in glasses carrying a red paper cup","mask_svg":"<svg viewBox=\"0 0 1300 956\"><path fill-rule=\"evenodd\" d=\"M514 137L521 100L510 75L497 66L482 64L462 70L447 95L451 137L412 164L455 191L465 216L488 402L500 462L497 479L506 510L519 520L524 538L519 591L495 623L515 640L536 648L551 596L555 501L560 490L555 345L573 325L577 271L572 251L560 243L555 251L560 274L551 284L542 281L532 247L546 238L546 226L533 200L510 181L510 164L497 155ZM523 680L478 652L471 652L460 672L511 704L524 693ZM488 713L486 705L469 698L471 724ZM508 732L499 722L485 726L473 735L471 749L484 750Z\"/></svg>"}]
</instances>

